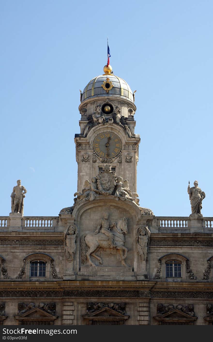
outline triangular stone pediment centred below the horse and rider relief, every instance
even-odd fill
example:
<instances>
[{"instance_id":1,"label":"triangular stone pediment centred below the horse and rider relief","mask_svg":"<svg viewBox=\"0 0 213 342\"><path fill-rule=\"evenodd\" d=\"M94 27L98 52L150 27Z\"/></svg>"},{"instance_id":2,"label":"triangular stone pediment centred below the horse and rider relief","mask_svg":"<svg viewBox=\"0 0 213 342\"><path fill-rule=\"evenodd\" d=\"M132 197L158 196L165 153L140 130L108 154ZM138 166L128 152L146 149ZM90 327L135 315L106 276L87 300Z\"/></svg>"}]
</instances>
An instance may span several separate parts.
<instances>
[{"instance_id":1,"label":"triangular stone pediment centred below the horse and rider relief","mask_svg":"<svg viewBox=\"0 0 213 342\"><path fill-rule=\"evenodd\" d=\"M83 318L87 320L88 325L123 325L124 321L129 318L109 307L103 307Z\"/></svg>"}]
</instances>

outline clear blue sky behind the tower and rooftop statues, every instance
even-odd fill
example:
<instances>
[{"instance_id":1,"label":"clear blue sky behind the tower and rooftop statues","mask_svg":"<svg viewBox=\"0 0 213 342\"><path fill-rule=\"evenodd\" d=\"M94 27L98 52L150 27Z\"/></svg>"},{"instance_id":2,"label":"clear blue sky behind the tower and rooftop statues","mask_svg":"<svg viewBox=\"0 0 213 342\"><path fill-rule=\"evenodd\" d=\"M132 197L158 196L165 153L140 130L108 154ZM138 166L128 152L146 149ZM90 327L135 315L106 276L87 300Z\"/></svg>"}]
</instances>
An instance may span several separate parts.
<instances>
[{"instance_id":1,"label":"clear blue sky behind the tower and rooftop statues","mask_svg":"<svg viewBox=\"0 0 213 342\"><path fill-rule=\"evenodd\" d=\"M212 1L1 3L0 215L16 180L26 216L56 216L77 187L80 92L102 74L137 90L137 192L157 216L188 216L198 180L212 199Z\"/></svg>"}]
</instances>

